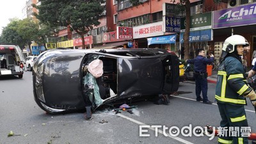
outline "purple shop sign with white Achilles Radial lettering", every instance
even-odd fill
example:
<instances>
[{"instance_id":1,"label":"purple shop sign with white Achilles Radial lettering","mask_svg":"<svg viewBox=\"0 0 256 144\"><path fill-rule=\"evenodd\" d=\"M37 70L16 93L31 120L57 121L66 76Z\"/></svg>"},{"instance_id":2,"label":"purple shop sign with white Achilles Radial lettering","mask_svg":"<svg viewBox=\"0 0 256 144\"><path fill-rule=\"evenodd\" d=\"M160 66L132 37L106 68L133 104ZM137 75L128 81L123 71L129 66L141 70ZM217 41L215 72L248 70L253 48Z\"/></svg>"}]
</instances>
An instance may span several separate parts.
<instances>
[{"instance_id":1,"label":"purple shop sign with white Achilles Radial lettering","mask_svg":"<svg viewBox=\"0 0 256 144\"><path fill-rule=\"evenodd\" d=\"M256 24L256 3L213 12L212 29Z\"/></svg>"}]
</instances>

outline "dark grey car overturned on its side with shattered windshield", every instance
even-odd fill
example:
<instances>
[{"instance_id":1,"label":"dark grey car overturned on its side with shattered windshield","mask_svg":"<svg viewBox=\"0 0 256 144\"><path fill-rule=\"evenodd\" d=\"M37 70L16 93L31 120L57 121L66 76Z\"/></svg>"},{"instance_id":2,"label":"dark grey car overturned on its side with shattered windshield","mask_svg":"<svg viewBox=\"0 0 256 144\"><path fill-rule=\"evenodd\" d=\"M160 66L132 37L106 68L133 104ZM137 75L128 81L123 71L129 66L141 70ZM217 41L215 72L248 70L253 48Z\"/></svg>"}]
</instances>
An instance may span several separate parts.
<instances>
[{"instance_id":1,"label":"dark grey car overturned on its side with shattered windshield","mask_svg":"<svg viewBox=\"0 0 256 144\"><path fill-rule=\"evenodd\" d=\"M95 78L88 65L103 63ZM168 95L179 88L179 59L163 49L55 49L33 67L35 101L48 113L93 110L118 100Z\"/></svg>"}]
</instances>

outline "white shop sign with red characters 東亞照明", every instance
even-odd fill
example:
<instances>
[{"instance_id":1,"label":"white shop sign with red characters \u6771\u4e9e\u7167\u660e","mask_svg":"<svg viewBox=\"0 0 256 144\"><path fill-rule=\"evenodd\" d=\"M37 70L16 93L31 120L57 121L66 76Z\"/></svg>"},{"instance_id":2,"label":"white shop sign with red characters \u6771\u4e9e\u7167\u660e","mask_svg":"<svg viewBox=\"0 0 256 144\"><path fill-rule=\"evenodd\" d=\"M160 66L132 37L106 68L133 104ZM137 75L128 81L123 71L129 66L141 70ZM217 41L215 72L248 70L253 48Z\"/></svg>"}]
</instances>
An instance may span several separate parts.
<instances>
[{"instance_id":1,"label":"white shop sign with red characters \u6771\u4e9e\u7167\u660e","mask_svg":"<svg viewBox=\"0 0 256 144\"><path fill-rule=\"evenodd\" d=\"M147 38L152 36L164 35L163 21L144 24L142 26L133 27L133 38Z\"/></svg>"}]
</instances>

